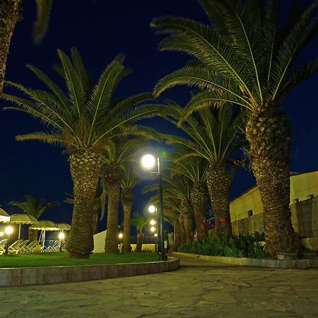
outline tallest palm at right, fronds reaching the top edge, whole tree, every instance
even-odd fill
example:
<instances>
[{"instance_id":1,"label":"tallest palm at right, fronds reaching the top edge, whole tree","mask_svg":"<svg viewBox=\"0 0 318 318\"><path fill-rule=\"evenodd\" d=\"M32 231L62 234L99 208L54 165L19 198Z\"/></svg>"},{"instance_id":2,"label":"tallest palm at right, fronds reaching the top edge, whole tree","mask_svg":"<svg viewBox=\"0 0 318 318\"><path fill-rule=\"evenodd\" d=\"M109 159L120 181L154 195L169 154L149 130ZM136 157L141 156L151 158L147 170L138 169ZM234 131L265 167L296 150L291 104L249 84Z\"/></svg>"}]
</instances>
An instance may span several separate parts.
<instances>
[{"instance_id":1,"label":"tallest palm at right, fronds reaching the top edge, whole tree","mask_svg":"<svg viewBox=\"0 0 318 318\"><path fill-rule=\"evenodd\" d=\"M317 35L318 1L293 6L281 23L281 1L198 0L211 23L158 18L167 33L163 50L187 52L195 62L163 78L156 95L175 85L203 88L185 107L194 110L225 100L247 112L249 160L264 206L266 248L272 257L295 249L290 221L290 124L283 100L318 70L318 59L295 61Z\"/></svg>"}]
</instances>

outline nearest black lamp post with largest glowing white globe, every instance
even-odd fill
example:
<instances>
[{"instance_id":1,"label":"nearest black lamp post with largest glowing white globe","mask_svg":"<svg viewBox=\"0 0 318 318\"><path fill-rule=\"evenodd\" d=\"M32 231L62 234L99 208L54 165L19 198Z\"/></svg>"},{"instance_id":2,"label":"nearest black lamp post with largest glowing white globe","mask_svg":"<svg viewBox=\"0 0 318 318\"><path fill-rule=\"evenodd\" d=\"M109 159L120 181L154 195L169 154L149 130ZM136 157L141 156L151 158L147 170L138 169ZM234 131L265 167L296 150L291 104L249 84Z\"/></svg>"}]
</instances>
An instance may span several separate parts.
<instances>
[{"instance_id":1,"label":"nearest black lamp post with largest glowing white globe","mask_svg":"<svg viewBox=\"0 0 318 318\"><path fill-rule=\"evenodd\" d=\"M165 261L167 258L165 256L165 242L163 237L163 177L160 171L160 158L157 157L157 160L153 155L144 155L143 158L141 158L141 165L146 170L151 170L153 167L155 167L155 163L157 162L157 168L158 170L155 172L151 172L152 175L158 175L159 177L159 206L160 206L160 214L158 214L158 225L160 225L158 228L158 234L160 235L160 252L161 252L161 260Z\"/></svg>"}]
</instances>

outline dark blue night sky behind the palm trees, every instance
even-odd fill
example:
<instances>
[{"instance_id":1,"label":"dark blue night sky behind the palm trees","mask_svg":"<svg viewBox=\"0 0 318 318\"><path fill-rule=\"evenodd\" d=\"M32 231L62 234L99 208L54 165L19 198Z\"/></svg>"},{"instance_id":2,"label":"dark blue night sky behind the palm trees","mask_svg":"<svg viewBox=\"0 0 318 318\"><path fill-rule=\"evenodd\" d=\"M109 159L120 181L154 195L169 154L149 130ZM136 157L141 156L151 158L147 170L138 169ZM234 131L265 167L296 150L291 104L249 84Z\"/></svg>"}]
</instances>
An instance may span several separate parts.
<instances>
[{"instance_id":1,"label":"dark blue night sky behind the palm trees","mask_svg":"<svg viewBox=\"0 0 318 318\"><path fill-rule=\"evenodd\" d=\"M33 64L57 79L51 68L58 61L56 49L69 54L69 49L76 46L95 79L119 52L126 54L125 64L132 67L134 73L119 86L119 96L153 90L161 77L183 66L188 57L177 52L158 52L160 37L149 28L152 18L174 15L207 20L194 0L54 0L49 32L37 46L31 37L35 1L23 2L23 20L16 25L13 35L6 78L35 89L43 86L25 64ZM283 4L288 2L285 0ZM284 6L283 11L285 9ZM303 52L300 62L317 57L317 47L316 37ZM302 83L283 104L293 125L290 163L293 171L318 169L317 83L318 74ZM178 88L165 93L165 97L185 103L189 93L185 88ZM173 132L171 126L157 120L151 125L160 131ZM17 134L43 129L42 124L27 114L1 111L0 129L0 205L8 213L19 213L18 208L8 206L8 201L23 200L25 194L59 201L61 206L47 211L42 219L71 223L71 206L62 201L66 193L72 192L72 182L67 156L61 155L61 148L36 141L15 141ZM231 196L239 195L253 184L252 175L240 170ZM145 204L146 197L138 196L133 211L141 211ZM103 228L105 219L100 224L100 230Z\"/></svg>"}]
</instances>

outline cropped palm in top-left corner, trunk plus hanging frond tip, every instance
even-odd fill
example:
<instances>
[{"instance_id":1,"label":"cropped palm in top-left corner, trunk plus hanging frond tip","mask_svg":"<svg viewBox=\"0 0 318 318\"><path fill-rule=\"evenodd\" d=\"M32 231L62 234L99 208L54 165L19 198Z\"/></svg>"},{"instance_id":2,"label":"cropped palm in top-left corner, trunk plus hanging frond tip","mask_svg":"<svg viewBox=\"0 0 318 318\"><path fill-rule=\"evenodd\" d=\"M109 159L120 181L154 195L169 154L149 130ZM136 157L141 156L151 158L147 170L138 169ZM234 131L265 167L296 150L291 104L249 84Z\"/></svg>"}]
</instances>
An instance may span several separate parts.
<instances>
[{"instance_id":1,"label":"cropped palm in top-left corner, trunk plus hanging frond tip","mask_svg":"<svg viewBox=\"0 0 318 318\"><path fill-rule=\"evenodd\" d=\"M6 59L16 23L22 16L23 0L0 1L0 95L4 88L4 76L6 74ZM37 20L33 30L33 40L40 43L49 26L49 15L52 0L36 0Z\"/></svg>"}]
</instances>

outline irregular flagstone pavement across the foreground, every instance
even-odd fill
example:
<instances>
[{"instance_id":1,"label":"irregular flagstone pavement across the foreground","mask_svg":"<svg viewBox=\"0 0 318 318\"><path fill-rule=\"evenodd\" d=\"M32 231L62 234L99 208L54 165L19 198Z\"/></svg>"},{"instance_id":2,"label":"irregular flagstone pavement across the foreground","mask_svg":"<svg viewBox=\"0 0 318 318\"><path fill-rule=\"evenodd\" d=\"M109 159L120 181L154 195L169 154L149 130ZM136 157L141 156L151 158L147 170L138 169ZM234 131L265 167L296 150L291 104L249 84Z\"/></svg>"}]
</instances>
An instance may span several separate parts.
<instances>
[{"instance_id":1,"label":"irregular flagstone pavement across the foreground","mask_svg":"<svg viewBox=\"0 0 318 318\"><path fill-rule=\"evenodd\" d=\"M0 289L0 317L318 317L317 269L182 258L178 271Z\"/></svg>"}]
</instances>

